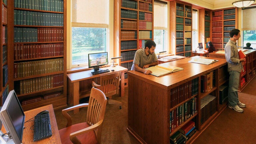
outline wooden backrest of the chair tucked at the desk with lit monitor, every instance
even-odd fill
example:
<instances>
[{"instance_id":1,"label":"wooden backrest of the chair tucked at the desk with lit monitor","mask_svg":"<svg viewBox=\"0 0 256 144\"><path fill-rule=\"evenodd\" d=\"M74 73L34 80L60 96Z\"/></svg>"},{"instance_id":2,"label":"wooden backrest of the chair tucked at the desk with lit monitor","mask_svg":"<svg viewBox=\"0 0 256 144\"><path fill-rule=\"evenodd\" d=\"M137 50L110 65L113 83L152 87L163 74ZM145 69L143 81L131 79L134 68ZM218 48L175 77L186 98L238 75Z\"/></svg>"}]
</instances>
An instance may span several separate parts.
<instances>
[{"instance_id":1,"label":"wooden backrest of the chair tucked at the desk with lit monitor","mask_svg":"<svg viewBox=\"0 0 256 144\"><path fill-rule=\"evenodd\" d=\"M119 79L121 72L114 72L110 74L103 74L100 76L101 91L106 97L119 93Z\"/></svg>"}]
</instances>

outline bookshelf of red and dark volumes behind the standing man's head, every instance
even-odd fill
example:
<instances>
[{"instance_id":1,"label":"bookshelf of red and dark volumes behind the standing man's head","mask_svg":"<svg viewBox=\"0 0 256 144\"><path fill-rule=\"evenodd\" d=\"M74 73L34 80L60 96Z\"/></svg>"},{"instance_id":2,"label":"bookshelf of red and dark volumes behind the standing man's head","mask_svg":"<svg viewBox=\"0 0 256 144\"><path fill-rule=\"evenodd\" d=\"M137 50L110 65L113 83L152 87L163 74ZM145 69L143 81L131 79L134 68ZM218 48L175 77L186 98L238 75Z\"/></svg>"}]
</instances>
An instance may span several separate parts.
<instances>
[{"instance_id":1,"label":"bookshelf of red and dark volumes behind the standing man's head","mask_svg":"<svg viewBox=\"0 0 256 144\"><path fill-rule=\"evenodd\" d=\"M238 8L226 8L212 11L211 41L216 50L223 50L229 41L229 31L238 27Z\"/></svg>"}]
</instances>

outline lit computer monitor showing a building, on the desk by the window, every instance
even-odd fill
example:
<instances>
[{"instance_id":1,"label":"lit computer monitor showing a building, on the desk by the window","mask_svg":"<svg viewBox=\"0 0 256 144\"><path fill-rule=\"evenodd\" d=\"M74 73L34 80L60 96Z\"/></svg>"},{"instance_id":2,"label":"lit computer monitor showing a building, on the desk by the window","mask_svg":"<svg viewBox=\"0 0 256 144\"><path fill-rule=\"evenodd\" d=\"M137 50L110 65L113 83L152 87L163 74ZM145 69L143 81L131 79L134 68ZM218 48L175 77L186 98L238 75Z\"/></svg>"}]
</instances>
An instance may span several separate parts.
<instances>
[{"instance_id":1,"label":"lit computer monitor showing a building, on the desk by the window","mask_svg":"<svg viewBox=\"0 0 256 144\"><path fill-rule=\"evenodd\" d=\"M108 64L108 52L88 54L88 59L89 68L98 71L100 66Z\"/></svg>"}]
</instances>

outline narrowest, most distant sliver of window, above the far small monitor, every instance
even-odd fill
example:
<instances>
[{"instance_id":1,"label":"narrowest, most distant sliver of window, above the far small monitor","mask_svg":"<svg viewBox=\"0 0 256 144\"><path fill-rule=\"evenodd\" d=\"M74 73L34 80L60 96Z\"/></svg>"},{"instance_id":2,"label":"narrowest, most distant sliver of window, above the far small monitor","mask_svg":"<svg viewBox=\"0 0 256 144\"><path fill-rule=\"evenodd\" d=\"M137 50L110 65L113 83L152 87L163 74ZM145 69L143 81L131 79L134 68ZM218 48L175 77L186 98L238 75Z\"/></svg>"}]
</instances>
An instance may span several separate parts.
<instances>
[{"instance_id":1,"label":"narrowest, most distant sliver of window, above the far small monitor","mask_svg":"<svg viewBox=\"0 0 256 144\"><path fill-rule=\"evenodd\" d=\"M192 11L192 50L198 47L198 11Z\"/></svg>"}]
</instances>

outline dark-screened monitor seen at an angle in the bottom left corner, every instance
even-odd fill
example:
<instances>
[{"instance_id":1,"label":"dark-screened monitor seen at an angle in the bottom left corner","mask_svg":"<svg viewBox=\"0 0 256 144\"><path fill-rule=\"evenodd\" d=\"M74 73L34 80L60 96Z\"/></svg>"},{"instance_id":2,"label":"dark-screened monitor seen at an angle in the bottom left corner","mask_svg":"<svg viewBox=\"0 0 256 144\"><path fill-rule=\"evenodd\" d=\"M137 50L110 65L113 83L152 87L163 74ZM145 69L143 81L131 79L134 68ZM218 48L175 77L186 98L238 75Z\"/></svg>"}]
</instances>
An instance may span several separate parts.
<instances>
[{"instance_id":1,"label":"dark-screened monitor seen at an angle in the bottom left corner","mask_svg":"<svg viewBox=\"0 0 256 144\"><path fill-rule=\"evenodd\" d=\"M14 90L10 91L4 102L0 119L9 137L2 136L2 143L22 143L25 114Z\"/></svg>"}]
</instances>

